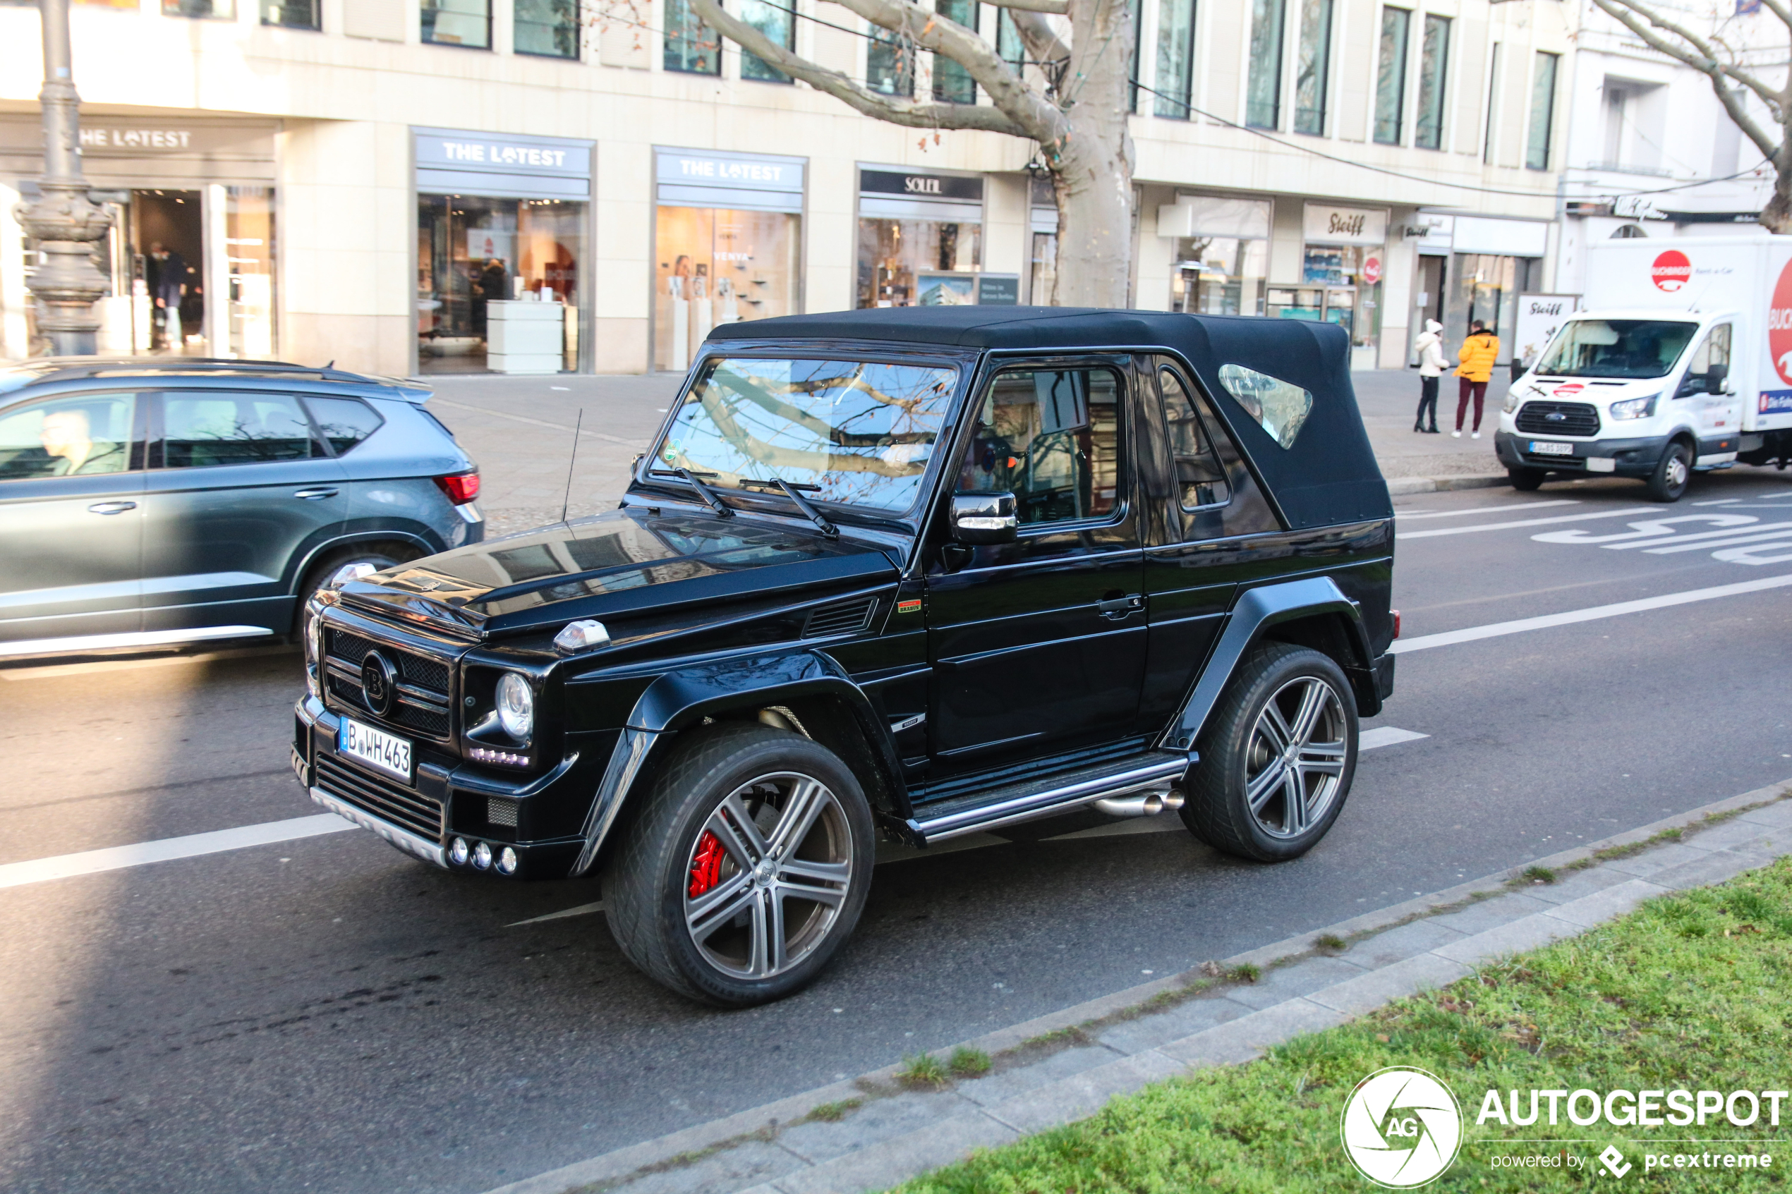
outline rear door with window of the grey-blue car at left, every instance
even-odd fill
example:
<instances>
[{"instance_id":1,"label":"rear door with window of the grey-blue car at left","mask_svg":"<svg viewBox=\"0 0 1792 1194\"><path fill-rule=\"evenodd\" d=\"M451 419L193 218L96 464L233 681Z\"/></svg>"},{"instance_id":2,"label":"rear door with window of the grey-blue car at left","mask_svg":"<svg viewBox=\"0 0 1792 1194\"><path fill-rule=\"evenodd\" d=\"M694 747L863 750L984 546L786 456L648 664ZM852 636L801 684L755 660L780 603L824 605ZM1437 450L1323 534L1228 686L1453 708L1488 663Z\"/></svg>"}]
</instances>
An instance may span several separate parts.
<instances>
[{"instance_id":1,"label":"rear door with window of the grey-blue car at left","mask_svg":"<svg viewBox=\"0 0 1792 1194\"><path fill-rule=\"evenodd\" d=\"M145 627L292 621L292 567L348 512L342 465L292 394L156 396L143 530Z\"/></svg>"}]
</instances>

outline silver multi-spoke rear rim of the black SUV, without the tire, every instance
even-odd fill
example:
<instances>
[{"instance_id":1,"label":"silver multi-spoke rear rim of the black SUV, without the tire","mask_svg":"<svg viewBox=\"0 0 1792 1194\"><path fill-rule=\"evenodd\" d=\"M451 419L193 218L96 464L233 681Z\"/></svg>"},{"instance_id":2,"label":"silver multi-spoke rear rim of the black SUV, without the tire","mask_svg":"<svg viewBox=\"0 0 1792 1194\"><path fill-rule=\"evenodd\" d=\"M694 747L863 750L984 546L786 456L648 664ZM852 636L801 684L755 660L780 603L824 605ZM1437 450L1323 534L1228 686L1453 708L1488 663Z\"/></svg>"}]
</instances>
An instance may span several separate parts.
<instances>
[{"instance_id":1,"label":"silver multi-spoke rear rim of the black SUV, without the tire","mask_svg":"<svg viewBox=\"0 0 1792 1194\"><path fill-rule=\"evenodd\" d=\"M1296 838L1337 798L1349 750L1344 704L1317 677L1288 680L1265 702L1245 750L1245 802L1271 838Z\"/></svg>"}]
</instances>

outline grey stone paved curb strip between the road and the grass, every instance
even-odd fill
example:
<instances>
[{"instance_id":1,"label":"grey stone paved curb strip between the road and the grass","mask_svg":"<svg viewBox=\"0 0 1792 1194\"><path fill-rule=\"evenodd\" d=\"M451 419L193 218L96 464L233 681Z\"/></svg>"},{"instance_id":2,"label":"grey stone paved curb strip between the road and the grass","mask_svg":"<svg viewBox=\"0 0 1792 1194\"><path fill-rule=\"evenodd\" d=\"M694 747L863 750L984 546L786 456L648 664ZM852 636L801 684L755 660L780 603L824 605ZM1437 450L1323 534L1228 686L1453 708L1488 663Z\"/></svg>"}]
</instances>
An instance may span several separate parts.
<instances>
[{"instance_id":1,"label":"grey stone paved curb strip between the road and the grass","mask_svg":"<svg viewBox=\"0 0 1792 1194\"><path fill-rule=\"evenodd\" d=\"M1495 958L1584 933L1656 895L1765 866L1787 852L1778 843L1792 840L1787 797L1792 780L1769 784L1220 963L1228 976L1256 967L1263 986L1288 990L1269 1006L1235 997L1254 985L1215 981L1197 968L964 1042L959 1047L991 1054L996 1067L939 1092L903 1094L900 1067L887 1065L489 1194L882 1190L977 1147L1084 1119L1147 1083L1249 1062L1301 1033L1453 983ZM1538 868L1557 877L1529 877ZM1326 934L1348 947L1317 949L1315 938ZM862 1104L839 1121L808 1119L844 1099Z\"/></svg>"}]
</instances>

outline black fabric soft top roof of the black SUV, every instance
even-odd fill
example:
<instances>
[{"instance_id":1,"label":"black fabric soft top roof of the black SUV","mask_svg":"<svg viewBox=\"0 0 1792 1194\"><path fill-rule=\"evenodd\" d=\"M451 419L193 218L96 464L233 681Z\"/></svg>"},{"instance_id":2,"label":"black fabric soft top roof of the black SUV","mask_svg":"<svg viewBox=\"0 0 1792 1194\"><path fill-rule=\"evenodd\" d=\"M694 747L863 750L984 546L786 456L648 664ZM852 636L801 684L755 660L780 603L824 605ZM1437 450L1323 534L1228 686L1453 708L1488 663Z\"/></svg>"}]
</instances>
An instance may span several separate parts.
<instances>
[{"instance_id":1,"label":"black fabric soft top roof of the black SUV","mask_svg":"<svg viewBox=\"0 0 1792 1194\"><path fill-rule=\"evenodd\" d=\"M1073 306L903 306L722 324L710 340L892 340L975 349L1167 349L1190 363L1294 528L1392 517L1387 483L1349 383L1349 337L1333 324ZM1220 385L1244 365L1314 394L1281 448Z\"/></svg>"}]
</instances>

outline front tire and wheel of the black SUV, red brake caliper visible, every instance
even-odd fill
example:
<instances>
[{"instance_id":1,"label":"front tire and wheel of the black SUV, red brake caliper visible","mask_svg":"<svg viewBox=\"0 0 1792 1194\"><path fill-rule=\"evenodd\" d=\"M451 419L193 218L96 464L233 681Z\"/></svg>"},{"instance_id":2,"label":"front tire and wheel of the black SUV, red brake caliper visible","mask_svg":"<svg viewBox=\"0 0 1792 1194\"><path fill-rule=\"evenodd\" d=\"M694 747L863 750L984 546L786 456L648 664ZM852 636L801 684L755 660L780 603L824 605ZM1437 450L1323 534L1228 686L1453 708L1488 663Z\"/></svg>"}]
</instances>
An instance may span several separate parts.
<instances>
[{"instance_id":1,"label":"front tire and wheel of the black SUV, red brake caliper visible","mask_svg":"<svg viewBox=\"0 0 1792 1194\"><path fill-rule=\"evenodd\" d=\"M778 818L792 809L797 791L796 779L781 777L817 782L831 804L817 797L819 813L794 845L744 866L753 843L729 825L745 809L762 840L776 847ZM708 870L706 857L713 861ZM622 952L647 977L690 999L747 1008L783 999L823 972L858 924L874 859L871 806L831 750L790 730L715 725L681 741L642 793L640 814L604 872L604 911ZM839 872L842 861L844 875L837 879L783 870L806 865ZM805 879L805 890L839 897L831 913L826 902L787 895L792 881ZM699 883L710 886L699 891ZM702 917L702 897L726 915L694 925ZM772 934L756 929L756 917L771 917L772 908L788 934L776 945L788 951L785 968L772 965Z\"/></svg>"}]
</instances>

